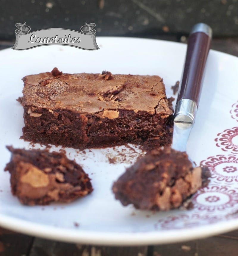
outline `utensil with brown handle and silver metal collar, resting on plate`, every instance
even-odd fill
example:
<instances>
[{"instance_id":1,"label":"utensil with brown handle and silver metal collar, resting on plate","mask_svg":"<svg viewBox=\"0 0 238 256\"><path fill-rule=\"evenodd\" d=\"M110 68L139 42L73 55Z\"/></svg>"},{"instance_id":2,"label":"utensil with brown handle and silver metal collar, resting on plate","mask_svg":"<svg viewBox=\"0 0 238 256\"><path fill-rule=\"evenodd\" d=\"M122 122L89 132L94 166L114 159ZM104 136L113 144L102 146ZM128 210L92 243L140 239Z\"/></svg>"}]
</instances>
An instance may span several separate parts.
<instances>
[{"instance_id":1,"label":"utensil with brown handle and silver metal collar, resting on plate","mask_svg":"<svg viewBox=\"0 0 238 256\"><path fill-rule=\"evenodd\" d=\"M203 71L212 39L212 29L195 24L188 38L187 53L179 85L173 125L172 148L186 152L202 91Z\"/></svg>"}]
</instances>

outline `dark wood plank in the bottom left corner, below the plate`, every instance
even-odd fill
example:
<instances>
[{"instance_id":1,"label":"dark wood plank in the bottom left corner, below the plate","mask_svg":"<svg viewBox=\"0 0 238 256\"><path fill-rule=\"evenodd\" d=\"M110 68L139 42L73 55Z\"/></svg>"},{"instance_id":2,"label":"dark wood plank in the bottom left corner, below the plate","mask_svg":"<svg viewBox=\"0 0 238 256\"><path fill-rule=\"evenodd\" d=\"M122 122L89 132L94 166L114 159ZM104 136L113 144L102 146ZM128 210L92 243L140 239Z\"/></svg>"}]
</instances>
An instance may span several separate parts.
<instances>
[{"instance_id":1,"label":"dark wood plank in the bottom left corner, below the plate","mask_svg":"<svg viewBox=\"0 0 238 256\"><path fill-rule=\"evenodd\" d=\"M28 255L34 238L0 228L0 256Z\"/></svg>"}]
</instances>

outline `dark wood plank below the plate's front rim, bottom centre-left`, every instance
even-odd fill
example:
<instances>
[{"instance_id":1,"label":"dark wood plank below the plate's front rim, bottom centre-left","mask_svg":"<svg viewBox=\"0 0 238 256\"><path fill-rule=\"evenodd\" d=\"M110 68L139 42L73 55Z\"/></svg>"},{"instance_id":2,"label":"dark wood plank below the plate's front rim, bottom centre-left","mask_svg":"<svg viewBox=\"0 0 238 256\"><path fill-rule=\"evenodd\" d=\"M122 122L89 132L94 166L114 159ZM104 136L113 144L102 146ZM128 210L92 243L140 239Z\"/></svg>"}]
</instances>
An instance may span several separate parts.
<instances>
[{"instance_id":1,"label":"dark wood plank below the plate's front rim, bottom centre-left","mask_svg":"<svg viewBox=\"0 0 238 256\"><path fill-rule=\"evenodd\" d=\"M29 256L65 256L65 252L72 256L146 256L147 246L90 246L35 238Z\"/></svg>"}]
</instances>

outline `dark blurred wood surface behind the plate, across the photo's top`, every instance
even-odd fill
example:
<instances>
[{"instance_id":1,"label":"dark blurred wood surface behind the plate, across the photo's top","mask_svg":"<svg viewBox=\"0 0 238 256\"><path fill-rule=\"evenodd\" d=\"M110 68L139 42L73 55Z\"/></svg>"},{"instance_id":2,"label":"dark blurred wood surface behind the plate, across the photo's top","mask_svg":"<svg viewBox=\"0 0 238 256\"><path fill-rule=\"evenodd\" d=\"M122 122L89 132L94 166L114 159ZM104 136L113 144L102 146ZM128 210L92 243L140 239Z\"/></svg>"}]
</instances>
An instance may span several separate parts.
<instances>
[{"instance_id":1,"label":"dark blurred wood surface behind the plate, across the photo's top","mask_svg":"<svg viewBox=\"0 0 238 256\"><path fill-rule=\"evenodd\" d=\"M121 36L154 31L157 34L189 33L193 24L210 24L214 35L237 35L235 0L31 0L0 5L0 38L15 38L15 24L24 22L32 31L49 27L79 30L85 21L95 22L98 35Z\"/></svg>"}]
</instances>

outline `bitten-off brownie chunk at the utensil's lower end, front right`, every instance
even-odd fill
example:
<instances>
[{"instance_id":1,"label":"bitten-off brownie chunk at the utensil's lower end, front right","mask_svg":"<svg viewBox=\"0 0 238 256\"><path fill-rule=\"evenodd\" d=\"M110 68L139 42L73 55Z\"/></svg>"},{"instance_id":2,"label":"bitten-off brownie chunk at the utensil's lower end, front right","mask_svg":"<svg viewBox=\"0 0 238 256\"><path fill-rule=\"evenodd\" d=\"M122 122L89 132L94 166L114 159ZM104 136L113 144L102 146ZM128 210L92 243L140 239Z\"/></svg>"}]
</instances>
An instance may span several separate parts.
<instances>
[{"instance_id":1,"label":"bitten-off brownie chunk at the utensil's lower end, front right","mask_svg":"<svg viewBox=\"0 0 238 256\"><path fill-rule=\"evenodd\" d=\"M210 177L208 168L192 167L185 152L154 149L126 169L113 184L116 199L143 210L180 207Z\"/></svg>"}]
</instances>

